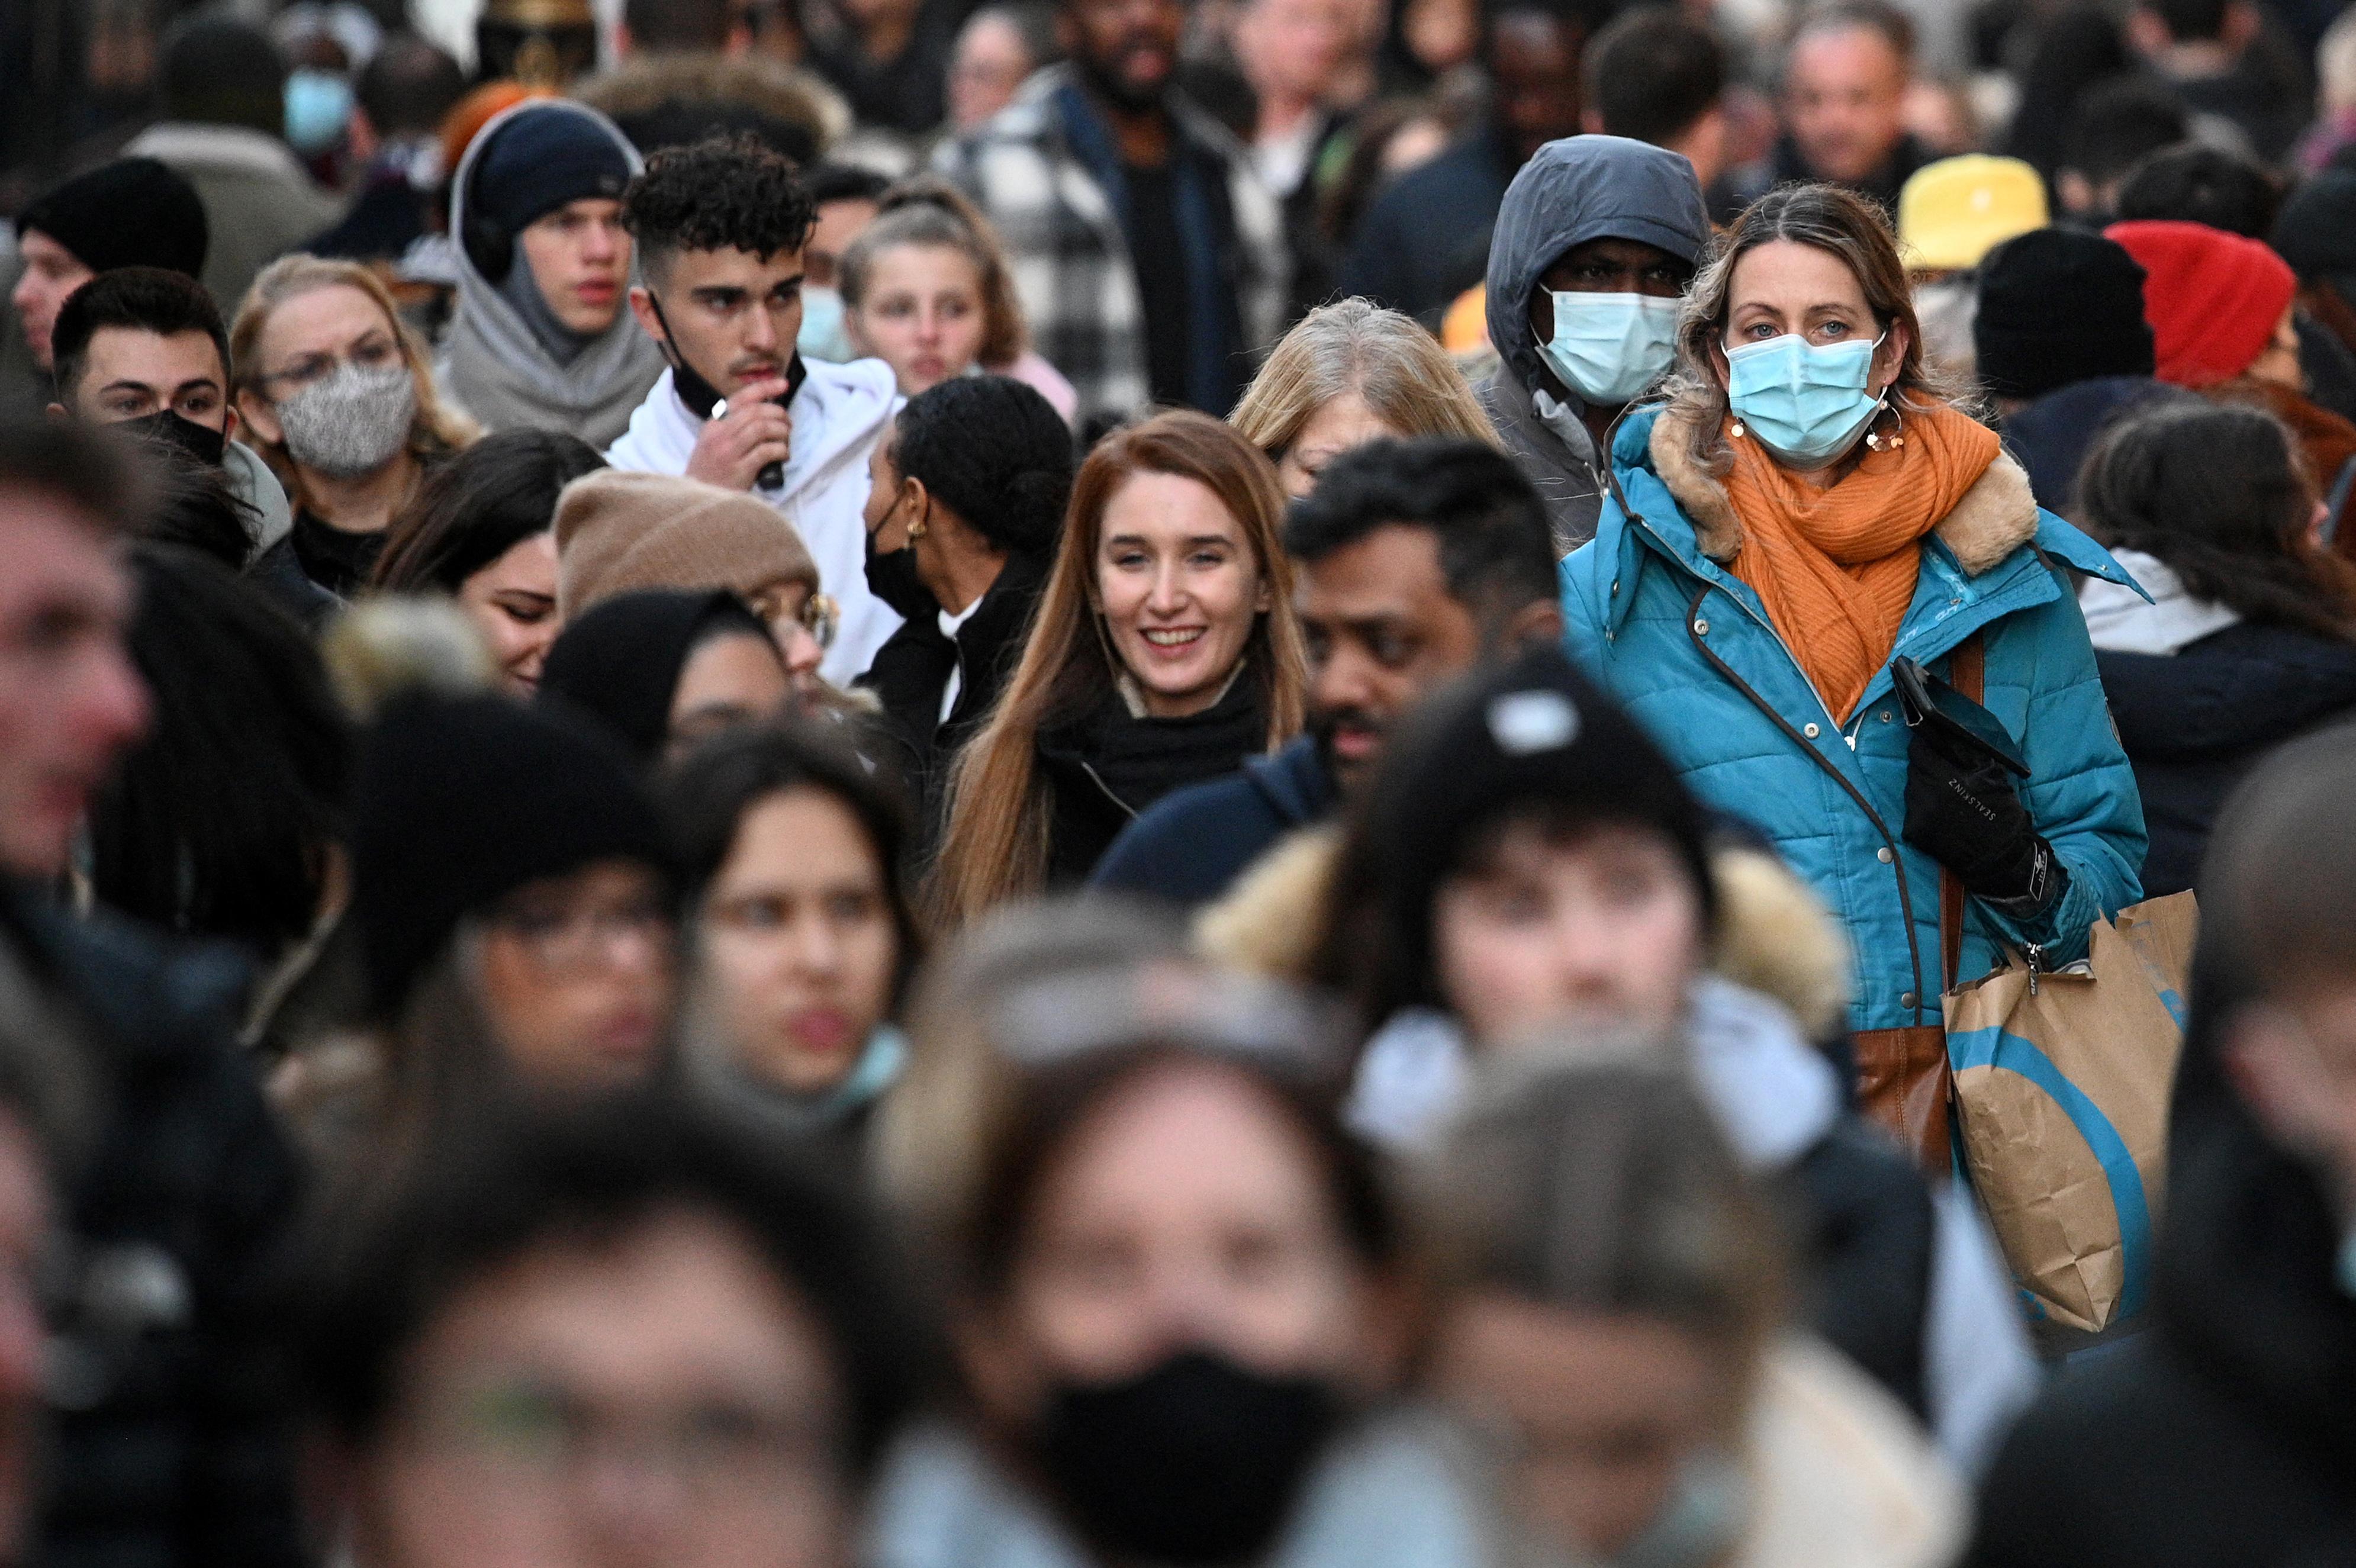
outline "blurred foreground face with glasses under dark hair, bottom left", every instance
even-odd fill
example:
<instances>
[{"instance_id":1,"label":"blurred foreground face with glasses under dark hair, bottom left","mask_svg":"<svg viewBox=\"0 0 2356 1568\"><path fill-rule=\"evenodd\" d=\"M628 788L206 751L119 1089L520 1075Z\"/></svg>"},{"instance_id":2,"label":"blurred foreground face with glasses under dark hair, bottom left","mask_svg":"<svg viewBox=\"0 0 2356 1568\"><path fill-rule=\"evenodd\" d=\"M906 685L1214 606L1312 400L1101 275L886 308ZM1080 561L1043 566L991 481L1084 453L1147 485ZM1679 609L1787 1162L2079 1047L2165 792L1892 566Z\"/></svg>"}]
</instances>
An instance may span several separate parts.
<instances>
[{"instance_id":1,"label":"blurred foreground face with glasses under dark hair, bottom left","mask_svg":"<svg viewBox=\"0 0 2356 1568\"><path fill-rule=\"evenodd\" d=\"M834 1568L841 1394L801 1302L671 1212L450 1297L353 1474L360 1568Z\"/></svg>"}]
</instances>

